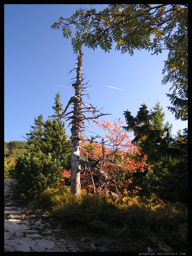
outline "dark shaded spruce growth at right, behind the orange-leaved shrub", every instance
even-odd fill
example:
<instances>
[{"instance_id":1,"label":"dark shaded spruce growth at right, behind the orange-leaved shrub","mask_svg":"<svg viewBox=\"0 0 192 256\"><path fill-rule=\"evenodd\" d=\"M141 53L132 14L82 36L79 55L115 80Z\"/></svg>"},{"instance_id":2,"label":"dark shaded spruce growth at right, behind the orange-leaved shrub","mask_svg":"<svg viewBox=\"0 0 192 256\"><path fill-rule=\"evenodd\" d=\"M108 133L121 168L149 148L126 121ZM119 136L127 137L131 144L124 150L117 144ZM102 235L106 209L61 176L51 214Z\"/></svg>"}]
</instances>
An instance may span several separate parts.
<instances>
[{"instance_id":1,"label":"dark shaded spruce growth at right, behind the orange-leaved shrub","mask_svg":"<svg viewBox=\"0 0 192 256\"><path fill-rule=\"evenodd\" d=\"M150 111L142 104L136 117L128 110L124 115L125 129L134 132L132 142L140 146L141 153L147 154L147 161L152 163L145 173L133 175L132 184L142 188L142 195L155 193L169 202L187 203L187 131L183 136L178 133L179 140L174 140L172 125L164 124L165 113L159 103Z\"/></svg>"}]
</instances>

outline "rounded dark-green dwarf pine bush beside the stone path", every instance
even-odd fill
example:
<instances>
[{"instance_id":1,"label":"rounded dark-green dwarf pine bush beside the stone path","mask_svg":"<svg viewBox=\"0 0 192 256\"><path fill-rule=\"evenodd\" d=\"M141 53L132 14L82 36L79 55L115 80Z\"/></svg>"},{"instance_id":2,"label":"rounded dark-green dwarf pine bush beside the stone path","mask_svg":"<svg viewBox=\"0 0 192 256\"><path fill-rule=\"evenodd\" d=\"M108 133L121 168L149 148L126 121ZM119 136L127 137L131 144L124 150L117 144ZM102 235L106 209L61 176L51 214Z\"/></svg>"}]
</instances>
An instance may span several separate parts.
<instances>
[{"instance_id":1,"label":"rounded dark-green dwarf pine bush beside the stone path","mask_svg":"<svg viewBox=\"0 0 192 256\"><path fill-rule=\"evenodd\" d=\"M63 159L57 158L55 153L46 155L31 146L29 152L19 158L15 165L13 194L27 200L38 197L46 188L57 185L62 165Z\"/></svg>"}]
</instances>

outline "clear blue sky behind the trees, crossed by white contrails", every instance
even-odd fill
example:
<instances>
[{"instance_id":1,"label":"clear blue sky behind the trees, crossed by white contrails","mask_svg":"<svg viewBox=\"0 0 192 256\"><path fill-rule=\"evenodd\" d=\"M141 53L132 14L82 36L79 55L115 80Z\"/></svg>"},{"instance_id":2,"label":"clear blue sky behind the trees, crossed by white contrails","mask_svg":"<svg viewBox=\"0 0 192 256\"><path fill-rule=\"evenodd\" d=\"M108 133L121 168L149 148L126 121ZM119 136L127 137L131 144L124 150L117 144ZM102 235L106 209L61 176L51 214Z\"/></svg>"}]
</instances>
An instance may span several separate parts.
<instances>
[{"instance_id":1,"label":"clear blue sky behind the trees, crossed by white contrails","mask_svg":"<svg viewBox=\"0 0 192 256\"><path fill-rule=\"evenodd\" d=\"M63 108L68 103L73 91L68 84L76 76L75 72L68 73L76 66L76 55L71 40L51 25L80 6L90 8L89 4L4 5L4 141L23 141L22 135L29 132L35 117L42 113L46 120L51 116L58 91ZM96 4L98 10L103 7ZM91 100L84 101L111 113L99 121L124 118L127 109L136 116L142 103L150 110L158 101L165 111L165 121L173 124L172 135L187 127L167 110L170 101L166 93L171 86L161 83L167 52L156 56L143 50L130 56L114 49L105 53L100 48L93 51L83 47L83 51L85 82L93 86L89 90ZM70 136L68 123L65 126ZM97 127L90 130L101 133Z\"/></svg>"}]
</instances>

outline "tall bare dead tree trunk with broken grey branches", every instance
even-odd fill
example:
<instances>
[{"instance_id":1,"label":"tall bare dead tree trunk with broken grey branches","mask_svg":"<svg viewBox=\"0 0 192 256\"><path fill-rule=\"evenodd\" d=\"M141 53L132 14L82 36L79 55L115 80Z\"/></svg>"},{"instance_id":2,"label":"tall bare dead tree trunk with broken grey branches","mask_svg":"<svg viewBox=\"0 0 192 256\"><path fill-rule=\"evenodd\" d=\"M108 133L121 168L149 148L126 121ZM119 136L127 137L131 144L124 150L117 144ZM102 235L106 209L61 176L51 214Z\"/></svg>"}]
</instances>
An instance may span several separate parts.
<instances>
[{"instance_id":1,"label":"tall bare dead tree trunk with broken grey branches","mask_svg":"<svg viewBox=\"0 0 192 256\"><path fill-rule=\"evenodd\" d=\"M85 161L80 156L80 143L82 140L82 133L85 127L89 127L85 121L87 120L90 123L90 120L94 121L94 119L98 119L102 115L108 115L103 114L102 112L100 114L97 114L100 112L100 110L97 110L96 107L93 107L91 104L84 103L82 100L82 90L85 90L87 87L83 87L83 77L82 77L82 61L83 61L83 53L82 50L79 51L77 55L77 67L76 67L76 82L72 84L72 86L75 89L75 95L73 95L65 110L63 111L62 115L60 116L60 121L62 118L66 118L67 120L71 120L69 123L72 124L71 128L71 143L72 143L72 156L71 156L71 193L79 195L81 190L81 183L80 183L80 172L81 172L81 164L86 165L87 167L91 167L96 170L97 173L99 173L101 176L107 178L106 174L96 168L97 162L89 162ZM85 94L88 95L88 94ZM70 111L68 113L68 107L73 104L73 111ZM91 117L86 116L85 112L91 113ZM72 114L71 116L69 116ZM92 125L92 124L91 124Z\"/></svg>"}]
</instances>

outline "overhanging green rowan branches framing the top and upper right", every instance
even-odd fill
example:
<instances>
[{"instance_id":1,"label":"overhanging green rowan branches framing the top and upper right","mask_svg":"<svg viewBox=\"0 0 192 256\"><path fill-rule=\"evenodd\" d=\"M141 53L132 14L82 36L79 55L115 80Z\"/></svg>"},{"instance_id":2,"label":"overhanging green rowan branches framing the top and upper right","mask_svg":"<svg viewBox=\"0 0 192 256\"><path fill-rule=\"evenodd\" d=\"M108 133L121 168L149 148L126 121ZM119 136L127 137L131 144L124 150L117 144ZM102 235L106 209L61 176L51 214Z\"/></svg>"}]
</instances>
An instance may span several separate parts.
<instances>
[{"instance_id":1,"label":"overhanging green rowan branches framing the top and upper right","mask_svg":"<svg viewBox=\"0 0 192 256\"><path fill-rule=\"evenodd\" d=\"M81 40L72 35L72 26ZM85 45L100 46L105 52L115 49L134 54L135 50L167 50L162 80L170 82L167 94L176 119L186 120L188 114L188 4L109 4L97 12L79 9L71 17L59 18L52 29L62 29L63 37L72 37L75 51Z\"/></svg>"}]
</instances>

